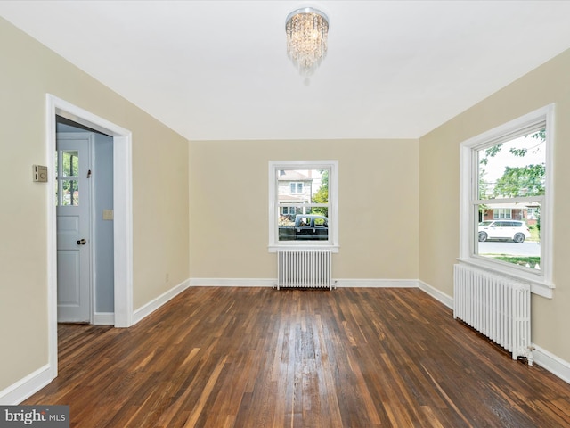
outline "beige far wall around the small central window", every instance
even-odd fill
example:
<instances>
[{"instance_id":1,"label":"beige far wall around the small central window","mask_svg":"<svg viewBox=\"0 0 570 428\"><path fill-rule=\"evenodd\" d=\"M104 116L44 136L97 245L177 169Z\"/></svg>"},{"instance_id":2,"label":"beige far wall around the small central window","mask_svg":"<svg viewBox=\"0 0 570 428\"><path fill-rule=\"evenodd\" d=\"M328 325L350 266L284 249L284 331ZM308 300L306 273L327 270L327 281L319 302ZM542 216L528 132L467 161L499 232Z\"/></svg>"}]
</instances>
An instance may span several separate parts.
<instances>
[{"instance_id":1,"label":"beige far wall around the small central window","mask_svg":"<svg viewBox=\"0 0 570 428\"><path fill-rule=\"evenodd\" d=\"M338 160L333 277L418 277L416 140L191 142L191 277L275 278L268 162Z\"/></svg>"}]
</instances>

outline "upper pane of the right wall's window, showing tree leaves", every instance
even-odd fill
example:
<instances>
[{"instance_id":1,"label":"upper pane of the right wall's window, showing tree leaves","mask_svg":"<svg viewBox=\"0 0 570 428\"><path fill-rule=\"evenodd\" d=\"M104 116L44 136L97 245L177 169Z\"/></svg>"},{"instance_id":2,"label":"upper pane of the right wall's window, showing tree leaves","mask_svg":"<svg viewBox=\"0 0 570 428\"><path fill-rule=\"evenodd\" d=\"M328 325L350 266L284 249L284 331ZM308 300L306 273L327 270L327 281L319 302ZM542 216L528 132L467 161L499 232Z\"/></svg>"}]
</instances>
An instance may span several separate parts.
<instances>
[{"instance_id":1,"label":"upper pane of the right wall's window, showing tree leaves","mask_svg":"<svg viewBox=\"0 0 570 428\"><path fill-rule=\"evenodd\" d=\"M542 129L477 151L478 199L543 195L545 141Z\"/></svg>"}]
</instances>

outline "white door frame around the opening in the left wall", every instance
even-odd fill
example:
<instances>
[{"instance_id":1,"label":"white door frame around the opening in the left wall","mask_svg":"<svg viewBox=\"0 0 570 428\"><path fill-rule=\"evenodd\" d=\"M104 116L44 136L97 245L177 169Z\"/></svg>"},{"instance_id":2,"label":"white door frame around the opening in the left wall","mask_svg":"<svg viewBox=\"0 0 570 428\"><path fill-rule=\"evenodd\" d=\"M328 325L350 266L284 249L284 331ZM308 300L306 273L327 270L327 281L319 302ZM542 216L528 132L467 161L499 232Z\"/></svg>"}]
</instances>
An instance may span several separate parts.
<instances>
[{"instance_id":1,"label":"white door frame around the opening in the left wall","mask_svg":"<svg viewBox=\"0 0 570 428\"><path fill-rule=\"evenodd\" d=\"M53 170L56 150L55 116L92 128L113 138L113 241L115 327L133 325L133 162L132 133L72 103L46 94L46 159ZM52 378L57 376L57 223L53 203L53 174L48 174L47 197L47 299L48 348Z\"/></svg>"}]
</instances>

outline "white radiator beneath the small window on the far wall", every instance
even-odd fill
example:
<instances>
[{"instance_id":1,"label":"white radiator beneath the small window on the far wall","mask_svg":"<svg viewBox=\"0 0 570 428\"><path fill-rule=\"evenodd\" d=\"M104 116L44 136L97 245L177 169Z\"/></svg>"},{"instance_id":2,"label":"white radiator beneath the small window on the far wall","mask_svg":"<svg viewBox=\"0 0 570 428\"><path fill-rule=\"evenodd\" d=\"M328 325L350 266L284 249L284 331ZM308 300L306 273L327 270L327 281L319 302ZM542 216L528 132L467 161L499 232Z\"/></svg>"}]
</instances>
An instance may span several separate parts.
<instances>
[{"instance_id":1,"label":"white radiator beneath the small window on the far wall","mask_svg":"<svg viewBox=\"0 0 570 428\"><path fill-rule=\"evenodd\" d=\"M332 290L330 250L278 250L277 290L328 288Z\"/></svg>"}]
</instances>

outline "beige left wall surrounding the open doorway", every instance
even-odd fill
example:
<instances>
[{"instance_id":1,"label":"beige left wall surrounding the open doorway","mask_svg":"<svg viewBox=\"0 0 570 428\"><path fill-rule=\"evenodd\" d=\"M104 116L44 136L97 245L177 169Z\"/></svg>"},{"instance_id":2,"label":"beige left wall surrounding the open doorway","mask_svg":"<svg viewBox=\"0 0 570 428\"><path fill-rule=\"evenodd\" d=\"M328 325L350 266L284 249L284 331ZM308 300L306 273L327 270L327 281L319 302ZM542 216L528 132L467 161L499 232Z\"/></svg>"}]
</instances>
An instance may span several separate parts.
<instances>
[{"instance_id":1,"label":"beige left wall surrounding the open doorway","mask_svg":"<svg viewBox=\"0 0 570 428\"><path fill-rule=\"evenodd\" d=\"M133 131L134 309L188 278L188 142L0 18L0 391L48 362L45 94ZM53 169L52 169L53 170ZM166 274L169 284L166 284Z\"/></svg>"}]
</instances>

